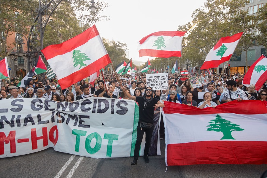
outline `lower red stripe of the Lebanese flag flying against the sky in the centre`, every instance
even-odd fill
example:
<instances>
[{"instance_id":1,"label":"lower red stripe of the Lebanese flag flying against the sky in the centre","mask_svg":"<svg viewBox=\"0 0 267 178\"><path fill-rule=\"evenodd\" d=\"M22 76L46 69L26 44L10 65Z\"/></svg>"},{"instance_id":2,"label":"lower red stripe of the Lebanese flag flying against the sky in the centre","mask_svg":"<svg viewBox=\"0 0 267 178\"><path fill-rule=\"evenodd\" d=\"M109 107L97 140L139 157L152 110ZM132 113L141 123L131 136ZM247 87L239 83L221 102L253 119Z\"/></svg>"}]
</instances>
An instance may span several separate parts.
<instances>
[{"instance_id":1,"label":"lower red stripe of the Lebanese flag flying against the sky in the centre","mask_svg":"<svg viewBox=\"0 0 267 178\"><path fill-rule=\"evenodd\" d=\"M160 58L181 57L181 51L141 49L139 50L139 57L142 57L142 56L151 56L151 57L160 57Z\"/></svg>"}]
</instances>

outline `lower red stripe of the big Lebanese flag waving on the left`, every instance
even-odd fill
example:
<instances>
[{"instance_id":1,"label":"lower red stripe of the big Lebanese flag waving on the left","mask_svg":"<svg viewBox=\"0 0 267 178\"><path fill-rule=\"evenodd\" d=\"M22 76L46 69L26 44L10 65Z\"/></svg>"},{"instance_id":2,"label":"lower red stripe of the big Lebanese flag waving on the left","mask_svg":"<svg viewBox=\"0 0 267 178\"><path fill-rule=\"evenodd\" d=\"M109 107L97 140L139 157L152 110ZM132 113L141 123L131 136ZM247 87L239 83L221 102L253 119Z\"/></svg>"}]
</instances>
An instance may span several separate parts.
<instances>
[{"instance_id":1,"label":"lower red stripe of the big Lebanese flag waving on the left","mask_svg":"<svg viewBox=\"0 0 267 178\"><path fill-rule=\"evenodd\" d=\"M86 66L85 68L80 69L79 71L76 71L70 74L69 76L58 80L59 85L62 89L65 89L70 85L78 82L81 78L86 78L95 73L97 70L99 70L99 66L107 66L109 63L111 63L109 55L104 55L103 57L99 58L97 61Z\"/></svg>"}]
</instances>

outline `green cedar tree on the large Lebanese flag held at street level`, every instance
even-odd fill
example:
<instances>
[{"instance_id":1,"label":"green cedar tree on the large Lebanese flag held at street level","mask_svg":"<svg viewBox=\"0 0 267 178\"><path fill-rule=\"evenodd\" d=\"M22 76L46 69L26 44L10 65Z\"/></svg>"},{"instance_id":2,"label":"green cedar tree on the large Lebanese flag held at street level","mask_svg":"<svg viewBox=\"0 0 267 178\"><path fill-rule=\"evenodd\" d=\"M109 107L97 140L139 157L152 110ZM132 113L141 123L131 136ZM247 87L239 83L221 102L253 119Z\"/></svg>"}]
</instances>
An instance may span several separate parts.
<instances>
[{"instance_id":1,"label":"green cedar tree on the large Lebanese flag held at street level","mask_svg":"<svg viewBox=\"0 0 267 178\"><path fill-rule=\"evenodd\" d=\"M229 120L223 119L220 115L217 114L217 116L210 120L209 125L206 127L209 127L207 131L214 131L214 132L222 132L223 137L221 140L224 139L232 139L235 140L232 137L232 131L243 131L243 128L239 127L240 125L237 125L236 123L232 123Z\"/></svg>"}]
</instances>

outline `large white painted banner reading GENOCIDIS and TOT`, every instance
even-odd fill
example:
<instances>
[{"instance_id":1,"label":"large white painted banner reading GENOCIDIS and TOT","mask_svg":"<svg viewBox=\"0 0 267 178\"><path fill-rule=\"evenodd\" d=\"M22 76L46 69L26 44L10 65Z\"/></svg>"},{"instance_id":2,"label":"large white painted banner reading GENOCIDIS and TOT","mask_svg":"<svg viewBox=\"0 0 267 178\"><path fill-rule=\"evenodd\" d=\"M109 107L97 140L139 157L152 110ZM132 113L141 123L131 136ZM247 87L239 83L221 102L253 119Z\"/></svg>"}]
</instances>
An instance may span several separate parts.
<instances>
[{"instance_id":1,"label":"large white painted banner reading GENOCIDIS and TOT","mask_svg":"<svg viewBox=\"0 0 267 178\"><path fill-rule=\"evenodd\" d=\"M0 101L0 116L0 158L48 147L91 158L133 156L139 120L134 101L111 98L7 99Z\"/></svg>"}]
</instances>

